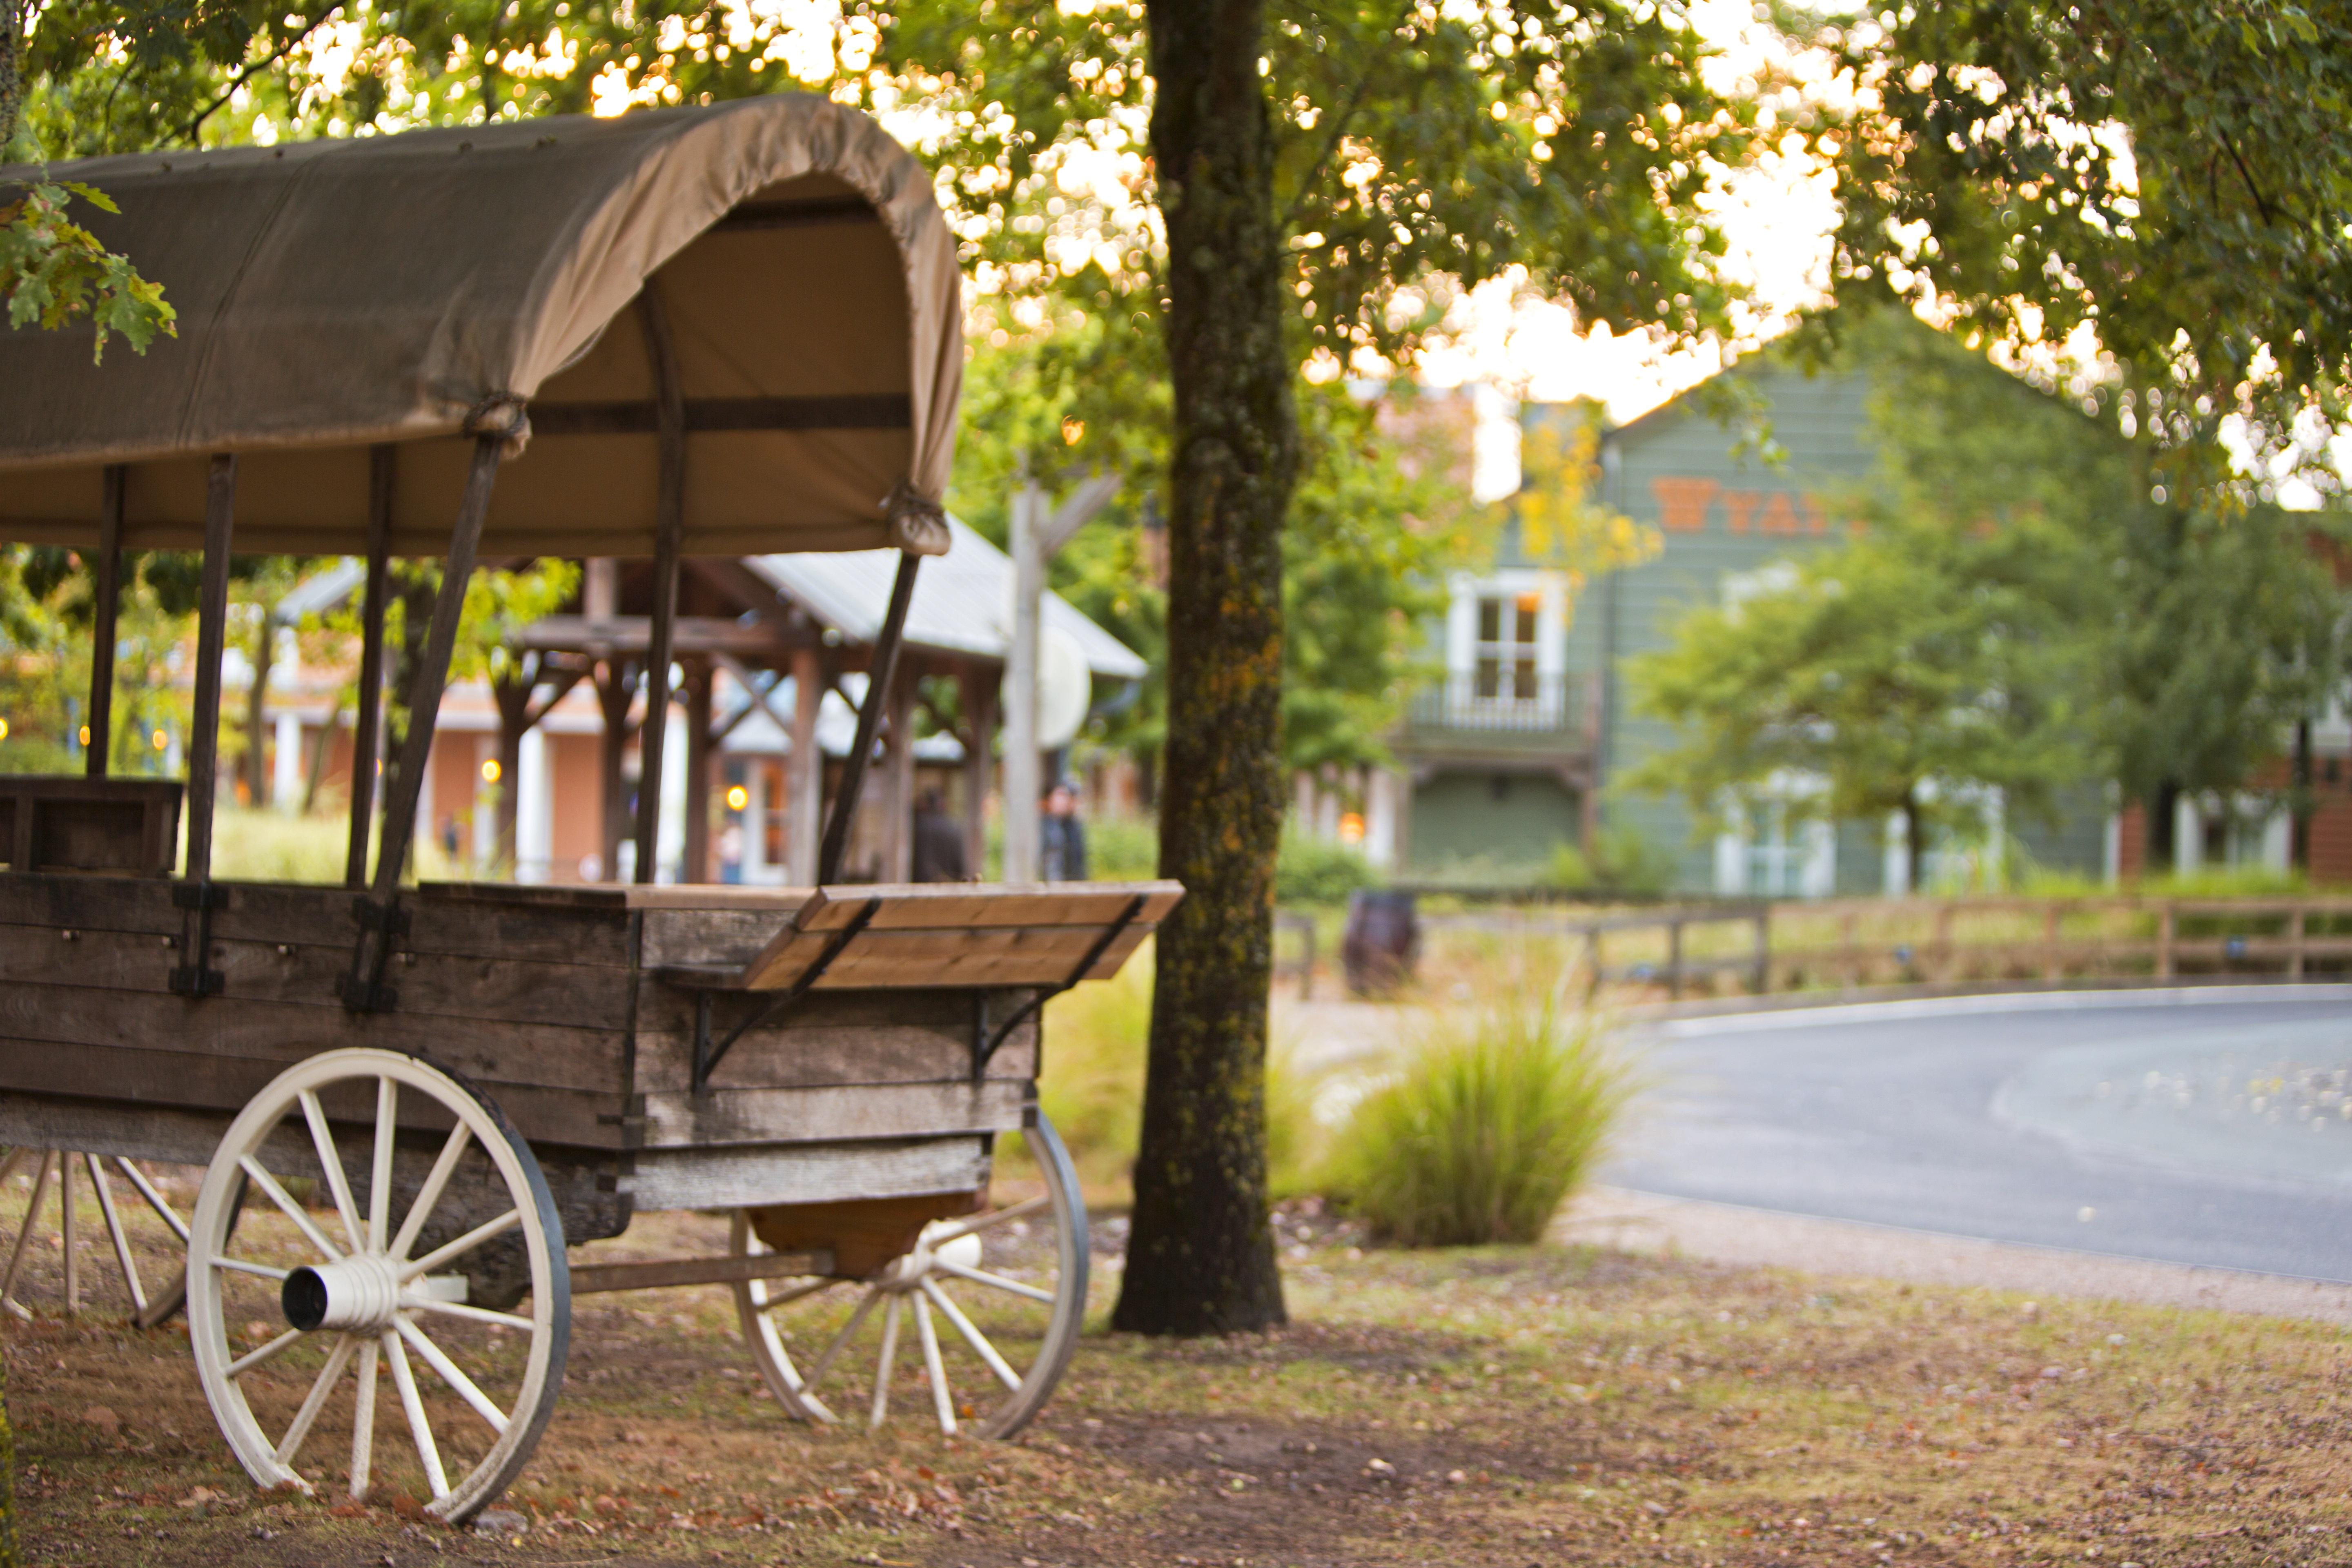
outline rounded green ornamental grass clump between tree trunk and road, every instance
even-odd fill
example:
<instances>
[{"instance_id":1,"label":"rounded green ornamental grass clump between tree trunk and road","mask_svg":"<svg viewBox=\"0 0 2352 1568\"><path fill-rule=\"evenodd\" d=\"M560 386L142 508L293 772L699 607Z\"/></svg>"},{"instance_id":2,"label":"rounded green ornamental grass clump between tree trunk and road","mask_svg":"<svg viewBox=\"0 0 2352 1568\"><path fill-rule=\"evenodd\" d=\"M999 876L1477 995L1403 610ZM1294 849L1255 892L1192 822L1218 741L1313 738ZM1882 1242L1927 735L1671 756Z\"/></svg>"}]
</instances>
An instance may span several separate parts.
<instances>
[{"instance_id":1,"label":"rounded green ornamental grass clump between tree trunk and road","mask_svg":"<svg viewBox=\"0 0 2352 1568\"><path fill-rule=\"evenodd\" d=\"M1538 1241L1592 1173L1632 1091L1559 997L1439 1018L1341 1128L1331 1187L1404 1246Z\"/></svg>"}]
</instances>

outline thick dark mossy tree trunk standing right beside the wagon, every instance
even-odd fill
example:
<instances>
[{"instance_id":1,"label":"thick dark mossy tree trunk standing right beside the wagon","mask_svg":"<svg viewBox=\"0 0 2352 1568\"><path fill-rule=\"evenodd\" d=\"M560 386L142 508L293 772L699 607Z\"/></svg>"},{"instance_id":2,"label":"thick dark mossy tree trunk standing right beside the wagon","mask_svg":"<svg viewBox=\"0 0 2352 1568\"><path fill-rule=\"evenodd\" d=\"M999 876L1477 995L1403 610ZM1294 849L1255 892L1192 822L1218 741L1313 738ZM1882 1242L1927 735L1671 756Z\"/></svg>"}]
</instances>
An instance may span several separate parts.
<instances>
[{"instance_id":1,"label":"thick dark mossy tree trunk standing right beside the wagon","mask_svg":"<svg viewBox=\"0 0 2352 1568\"><path fill-rule=\"evenodd\" d=\"M1148 19L1174 383L1160 875L1188 898L1160 926L1136 1218L1110 1321L1235 1333L1284 1321L1265 1211L1265 1006L1298 421L1263 0L1150 0Z\"/></svg>"}]
</instances>

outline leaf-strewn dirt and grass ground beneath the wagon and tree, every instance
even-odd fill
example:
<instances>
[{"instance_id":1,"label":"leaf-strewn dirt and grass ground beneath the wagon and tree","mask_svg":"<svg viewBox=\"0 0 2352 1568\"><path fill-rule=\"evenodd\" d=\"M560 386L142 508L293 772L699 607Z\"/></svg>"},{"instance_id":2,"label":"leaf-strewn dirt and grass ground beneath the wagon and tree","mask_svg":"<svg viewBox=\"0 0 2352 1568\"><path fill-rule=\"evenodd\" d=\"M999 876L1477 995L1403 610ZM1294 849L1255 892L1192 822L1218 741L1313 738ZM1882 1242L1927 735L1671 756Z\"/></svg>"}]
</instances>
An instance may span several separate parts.
<instances>
[{"instance_id":1,"label":"leaf-strewn dirt and grass ground beneath the wagon and tree","mask_svg":"<svg viewBox=\"0 0 2352 1568\"><path fill-rule=\"evenodd\" d=\"M452 1530L407 1495L256 1495L183 1331L122 1326L92 1239L78 1319L35 1246L35 1321L0 1328L33 1563L2352 1563L2343 1328L1590 1246L1404 1255L1305 1213L1289 1328L1089 1333L1011 1443L920 1406L882 1434L786 1420L717 1288L583 1300L506 1528Z\"/></svg>"}]
</instances>

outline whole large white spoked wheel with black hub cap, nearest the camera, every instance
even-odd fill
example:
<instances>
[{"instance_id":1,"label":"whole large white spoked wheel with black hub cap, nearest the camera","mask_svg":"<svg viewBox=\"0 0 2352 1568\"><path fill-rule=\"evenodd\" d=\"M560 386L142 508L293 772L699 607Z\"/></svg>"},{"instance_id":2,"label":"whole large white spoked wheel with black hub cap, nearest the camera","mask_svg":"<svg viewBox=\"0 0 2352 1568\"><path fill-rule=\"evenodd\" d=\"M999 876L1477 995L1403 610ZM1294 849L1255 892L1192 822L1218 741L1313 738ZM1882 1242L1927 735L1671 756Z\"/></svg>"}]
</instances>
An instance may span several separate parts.
<instances>
[{"instance_id":1,"label":"whole large white spoked wheel with black hub cap, nearest the camera","mask_svg":"<svg viewBox=\"0 0 2352 1568\"><path fill-rule=\"evenodd\" d=\"M402 1105L412 1128L454 1126L400 1135ZM308 1178L318 1213L280 1175ZM527 1291L529 1305L468 1302L468 1279ZM496 1105L414 1056L327 1051L289 1067L238 1114L205 1173L188 1335L254 1483L313 1490L327 1467L303 1465L303 1446L325 1420L350 1432L350 1497L372 1481L421 1481L430 1516L473 1516L529 1462L572 1340L572 1274L539 1159ZM379 1368L414 1472L397 1448L376 1455Z\"/></svg>"}]
</instances>

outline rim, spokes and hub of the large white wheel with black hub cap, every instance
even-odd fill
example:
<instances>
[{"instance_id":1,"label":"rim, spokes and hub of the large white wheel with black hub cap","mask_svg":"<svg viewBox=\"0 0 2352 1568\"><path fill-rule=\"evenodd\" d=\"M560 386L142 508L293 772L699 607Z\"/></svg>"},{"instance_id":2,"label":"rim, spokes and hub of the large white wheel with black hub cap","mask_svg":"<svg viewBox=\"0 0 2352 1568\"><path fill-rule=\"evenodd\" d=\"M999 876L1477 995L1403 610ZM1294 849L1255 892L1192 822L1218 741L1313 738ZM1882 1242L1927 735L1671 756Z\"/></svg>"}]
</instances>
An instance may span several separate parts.
<instances>
[{"instance_id":1,"label":"rim, spokes and hub of the large white wheel with black hub cap","mask_svg":"<svg viewBox=\"0 0 2352 1568\"><path fill-rule=\"evenodd\" d=\"M433 1436L433 1418L423 1406L421 1387L426 1380L437 1380L437 1385L456 1392L461 1399L466 1396L466 1389L459 1387L463 1371L459 1368L459 1380L452 1380L449 1368L435 1363L435 1354L428 1349L433 1347L433 1340L426 1324L435 1316L468 1309L454 1309L449 1305L412 1305L421 1298L405 1284L397 1298L400 1307L390 1312L390 1326L381 1331L343 1331L332 1326L301 1331L287 1326L287 1333L282 1333L278 1342L289 1347L303 1342L334 1345L327 1354L325 1368L310 1385L301 1410L296 1410L282 1436L270 1436L261 1418L247 1403L240 1385L242 1366L228 1345L228 1324L223 1319L221 1300L223 1276L230 1272L263 1276L275 1272L280 1279L285 1276L285 1269L228 1267L230 1262L238 1262L235 1255L226 1251L223 1241L228 1225L235 1218L238 1190L245 1185L240 1178L252 1180L252 1185L259 1187L261 1197L254 1201L266 1199L266 1206L275 1206L294 1218L285 1190L275 1182L275 1178L263 1180L266 1173L254 1154L282 1121L292 1121L296 1128L308 1126L315 1135L315 1128L322 1126L315 1117L318 1093L355 1079L374 1079L379 1107L376 1124L365 1140L372 1161L367 1211L360 1213L350 1192L343 1190L348 1178L336 1182L336 1178L327 1175L327 1164L320 1157L320 1175L327 1178L336 1192L334 1208L327 1211L322 1220L303 1229L308 1253L318 1258L327 1258L339 1251L353 1258L365 1253L369 1258L388 1260L395 1272L419 1269L416 1279L423 1279L433 1267L463 1260L475 1246L489 1241L492 1234L520 1229L529 1258L529 1316L489 1314L494 1321L501 1321L501 1326L529 1333L520 1387L515 1389L513 1406L501 1413L503 1429L492 1425L496 1441L461 1476L445 1476L440 1467L440 1439ZM393 1112L393 1105L407 1095L426 1095L454 1117L456 1128L452 1128L452 1133L442 1140L442 1154L435 1164L437 1182L433 1178L426 1182L430 1192L419 1192L416 1204L397 1206L390 1199L393 1182L388 1180L388 1173L393 1154L388 1138L397 1133L397 1114ZM463 1159L470 1150L480 1150L494 1166L499 1180L506 1185L506 1194L513 1199L510 1222L492 1234L480 1234L485 1227L468 1232L470 1246L466 1246L468 1237L459 1237L456 1241L421 1258L412 1255L419 1227L430 1218L433 1204L437 1204L447 1190L449 1171L454 1171L459 1159ZM379 1192L383 1194L381 1201L376 1197ZM426 1213L419 1215L419 1206L423 1206ZM400 1208L397 1215L393 1213L395 1208ZM296 1218L296 1227L303 1227L301 1218ZM336 1237L348 1244L355 1234L365 1234L369 1246L334 1246ZM320 1239L329 1239L329 1246L320 1248ZM513 1126L508 1126L494 1103L461 1079L414 1056L379 1048L346 1048L325 1051L296 1063L278 1074L268 1088L254 1095L252 1103L247 1103L247 1107L228 1126L212 1166L205 1171L205 1185L198 1192L188 1234L188 1338L195 1349L198 1380L205 1387L205 1399L212 1403L221 1436L228 1439L238 1462L245 1465L245 1472L261 1488L296 1486L303 1493L313 1490L310 1481L294 1469L294 1462L303 1453L315 1453L310 1443L320 1439L313 1432L313 1422L325 1401L341 1387L346 1375L350 1375L355 1378L355 1413L343 1474L346 1493L353 1500L365 1502L374 1474L372 1460L379 1406L383 1403L383 1389L379 1387L383 1380L379 1380L376 1373L390 1371L390 1382L397 1394L397 1415L393 1415L395 1432L402 1425L407 1427L409 1443L416 1450L428 1488L433 1490L433 1500L426 1502L426 1514L452 1523L470 1519L499 1497L499 1493L503 1493L506 1486L522 1472L532 1458L532 1448L539 1443L539 1434L546 1429L548 1418L555 1410L555 1396L562 1387L564 1359L569 1354L569 1319L572 1276L564 1262L562 1222L555 1213L555 1199L548 1192L539 1159L513 1131ZM247 1354L242 1361L252 1363L254 1354ZM447 1361L447 1356L442 1356L442 1361ZM480 1396L480 1389L475 1389L475 1394ZM473 1403L473 1399L466 1399L466 1403ZM475 1408L480 1410L480 1406ZM405 1418L405 1422L400 1418ZM480 1420L487 1422L487 1418Z\"/></svg>"}]
</instances>

